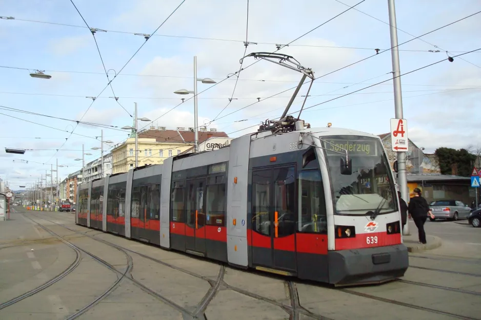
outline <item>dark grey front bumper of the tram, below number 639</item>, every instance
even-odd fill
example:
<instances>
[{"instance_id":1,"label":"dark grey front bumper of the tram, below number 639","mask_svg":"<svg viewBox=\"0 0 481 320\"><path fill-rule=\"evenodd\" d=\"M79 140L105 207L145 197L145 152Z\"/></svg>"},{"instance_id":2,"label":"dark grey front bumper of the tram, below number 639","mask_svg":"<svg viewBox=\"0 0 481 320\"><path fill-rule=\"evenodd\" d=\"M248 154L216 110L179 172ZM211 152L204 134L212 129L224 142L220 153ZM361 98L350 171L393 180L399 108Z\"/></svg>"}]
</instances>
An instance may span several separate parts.
<instances>
[{"instance_id":1,"label":"dark grey front bumper of the tram, below number 639","mask_svg":"<svg viewBox=\"0 0 481 320\"><path fill-rule=\"evenodd\" d=\"M404 275L409 266L404 244L329 251L329 283L336 286L383 283Z\"/></svg>"}]
</instances>

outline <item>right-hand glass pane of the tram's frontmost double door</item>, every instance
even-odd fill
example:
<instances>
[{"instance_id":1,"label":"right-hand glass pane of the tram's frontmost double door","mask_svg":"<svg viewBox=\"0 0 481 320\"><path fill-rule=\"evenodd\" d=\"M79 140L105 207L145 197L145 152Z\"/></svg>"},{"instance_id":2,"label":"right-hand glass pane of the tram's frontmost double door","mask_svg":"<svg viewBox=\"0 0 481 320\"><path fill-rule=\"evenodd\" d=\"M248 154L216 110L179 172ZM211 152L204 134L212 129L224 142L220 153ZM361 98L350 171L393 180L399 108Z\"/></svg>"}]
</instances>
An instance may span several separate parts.
<instances>
[{"instance_id":1,"label":"right-hand glass pane of the tram's frontmost double door","mask_svg":"<svg viewBox=\"0 0 481 320\"><path fill-rule=\"evenodd\" d=\"M274 178L277 237L286 237L295 231L295 169L294 167L274 169Z\"/></svg>"}]
</instances>

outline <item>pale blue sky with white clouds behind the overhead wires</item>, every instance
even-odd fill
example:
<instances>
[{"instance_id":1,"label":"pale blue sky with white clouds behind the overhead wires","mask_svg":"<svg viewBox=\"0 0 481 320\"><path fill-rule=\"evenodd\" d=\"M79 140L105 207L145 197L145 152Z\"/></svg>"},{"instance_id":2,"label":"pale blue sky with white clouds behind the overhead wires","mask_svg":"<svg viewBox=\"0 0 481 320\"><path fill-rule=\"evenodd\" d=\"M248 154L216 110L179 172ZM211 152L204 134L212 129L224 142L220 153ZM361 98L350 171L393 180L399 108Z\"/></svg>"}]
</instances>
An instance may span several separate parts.
<instances>
[{"instance_id":1,"label":"pale blue sky with white clouds behind the overhead wires","mask_svg":"<svg viewBox=\"0 0 481 320\"><path fill-rule=\"evenodd\" d=\"M139 129L193 127L193 95L173 92L193 90L194 56L197 77L217 82L198 82L199 125L230 137L255 132L261 121L282 114L302 74L253 57L246 57L244 70L235 73L245 52L273 52L276 44L290 44L278 53L293 56L317 78L301 116L311 127L331 122L333 127L387 133L389 119L395 117L391 51L383 52L391 48L388 2L365 0L342 13L360 1L74 0L89 27L107 30L94 36L70 1L2 1L0 16L14 19L0 19L0 178L18 189L45 178L58 161L63 180L81 169L82 161L74 159L82 158L82 145L92 154L85 163L100 156L91 148L101 145L102 129L104 140L121 143L128 137L119 128L133 124L134 102L138 117L152 120L139 121ZM477 0L397 1L401 74L481 49L481 13L403 44L478 11ZM142 34L157 28L146 41ZM112 88L103 64L109 80L117 74ZM36 70L45 70L51 79L30 77ZM417 146L426 153L442 146L481 146L481 50L400 79L409 138ZM308 86L290 112L299 110ZM75 122L81 119L103 127ZM104 150L112 145L104 144ZM5 147L27 151L7 154Z\"/></svg>"}]
</instances>

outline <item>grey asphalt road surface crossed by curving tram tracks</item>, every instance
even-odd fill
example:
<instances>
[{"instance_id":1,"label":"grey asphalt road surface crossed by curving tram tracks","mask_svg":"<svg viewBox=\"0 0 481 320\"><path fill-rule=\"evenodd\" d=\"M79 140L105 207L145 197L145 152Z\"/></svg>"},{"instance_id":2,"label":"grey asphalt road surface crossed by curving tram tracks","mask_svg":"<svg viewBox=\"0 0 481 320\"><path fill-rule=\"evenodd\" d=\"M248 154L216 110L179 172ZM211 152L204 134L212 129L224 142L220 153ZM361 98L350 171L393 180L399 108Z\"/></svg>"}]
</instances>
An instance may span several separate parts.
<instances>
[{"instance_id":1,"label":"grey asphalt road surface crossed by curving tram tracks","mask_svg":"<svg viewBox=\"0 0 481 320\"><path fill-rule=\"evenodd\" d=\"M402 280L339 289L76 226L67 212L11 218L1 319L481 319L481 228L468 225L428 222L443 245L411 254Z\"/></svg>"}]
</instances>

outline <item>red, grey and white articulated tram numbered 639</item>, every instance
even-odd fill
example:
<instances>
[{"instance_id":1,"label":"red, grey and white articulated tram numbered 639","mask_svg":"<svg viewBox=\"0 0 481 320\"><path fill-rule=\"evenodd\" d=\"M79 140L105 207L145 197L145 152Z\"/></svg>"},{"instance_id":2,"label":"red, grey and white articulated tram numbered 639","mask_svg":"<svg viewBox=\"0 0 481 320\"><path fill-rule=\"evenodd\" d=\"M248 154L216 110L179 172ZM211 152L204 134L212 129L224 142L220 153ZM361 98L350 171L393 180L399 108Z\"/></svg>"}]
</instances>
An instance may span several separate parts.
<instances>
[{"instance_id":1,"label":"red, grey and white articulated tram numbered 639","mask_svg":"<svg viewBox=\"0 0 481 320\"><path fill-rule=\"evenodd\" d=\"M288 109L219 150L80 184L75 222L336 286L403 276L408 251L380 138L311 128Z\"/></svg>"}]
</instances>

